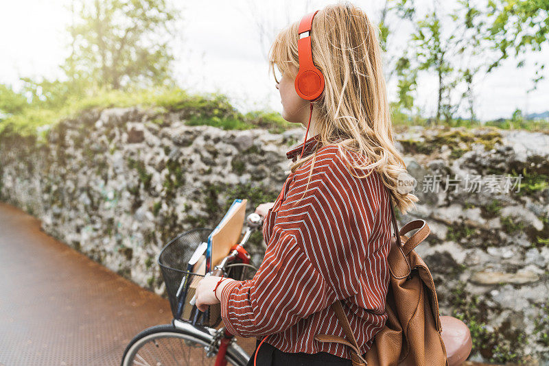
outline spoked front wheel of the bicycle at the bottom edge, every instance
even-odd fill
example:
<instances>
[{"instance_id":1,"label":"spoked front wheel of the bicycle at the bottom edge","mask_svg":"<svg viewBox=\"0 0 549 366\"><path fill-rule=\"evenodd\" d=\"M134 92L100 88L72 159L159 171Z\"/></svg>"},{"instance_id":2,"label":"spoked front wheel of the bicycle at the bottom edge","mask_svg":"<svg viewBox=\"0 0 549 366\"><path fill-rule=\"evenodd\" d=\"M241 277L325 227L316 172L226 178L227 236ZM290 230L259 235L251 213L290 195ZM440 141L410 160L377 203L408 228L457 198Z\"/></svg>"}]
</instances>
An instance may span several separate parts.
<instances>
[{"instance_id":1,"label":"spoked front wheel of the bicycle at the bottom edge","mask_svg":"<svg viewBox=\"0 0 549 366\"><path fill-rule=\"evenodd\" d=\"M190 324L153 326L137 334L124 351L121 366L214 365L217 353L207 357L205 347L213 339ZM250 356L236 343L227 347L227 365L245 366Z\"/></svg>"}]
</instances>

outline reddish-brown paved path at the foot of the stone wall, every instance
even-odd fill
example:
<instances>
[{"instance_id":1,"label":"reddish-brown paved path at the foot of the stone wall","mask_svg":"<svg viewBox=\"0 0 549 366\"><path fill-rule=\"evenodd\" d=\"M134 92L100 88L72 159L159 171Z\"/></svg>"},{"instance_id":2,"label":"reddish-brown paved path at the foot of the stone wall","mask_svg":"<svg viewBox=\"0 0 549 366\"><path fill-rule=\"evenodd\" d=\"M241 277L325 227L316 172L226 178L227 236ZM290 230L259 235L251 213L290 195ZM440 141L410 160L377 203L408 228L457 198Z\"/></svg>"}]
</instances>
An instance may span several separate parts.
<instances>
[{"instance_id":1,"label":"reddish-brown paved path at the foot of the stone wall","mask_svg":"<svg viewBox=\"0 0 549 366\"><path fill-rule=\"evenodd\" d=\"M119 365L135 334L171 319L167 300L0 202L0 365Z\"/></svg>"}]
</instances>

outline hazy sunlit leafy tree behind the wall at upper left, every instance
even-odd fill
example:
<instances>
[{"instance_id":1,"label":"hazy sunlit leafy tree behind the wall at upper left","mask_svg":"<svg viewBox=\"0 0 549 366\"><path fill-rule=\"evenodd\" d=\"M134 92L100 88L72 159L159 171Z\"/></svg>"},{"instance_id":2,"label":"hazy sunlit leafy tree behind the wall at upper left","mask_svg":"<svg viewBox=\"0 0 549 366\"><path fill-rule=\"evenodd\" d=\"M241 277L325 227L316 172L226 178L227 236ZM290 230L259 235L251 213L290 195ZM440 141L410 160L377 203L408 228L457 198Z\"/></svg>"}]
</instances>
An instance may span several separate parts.
<instances>
[{"instance_id":1,"label":"hazy sunlit leafy tree behind the wall at upper left","mask_svg":"<svg viewBox=\"0 0 549 366\"><path fill-rule=\"evenodd\" d=\"M178 10L165 0L84 1L69 27L71 55L62 69L73 84L114 89L172 82L168 42Z\"/></svg>"}]
</instances>

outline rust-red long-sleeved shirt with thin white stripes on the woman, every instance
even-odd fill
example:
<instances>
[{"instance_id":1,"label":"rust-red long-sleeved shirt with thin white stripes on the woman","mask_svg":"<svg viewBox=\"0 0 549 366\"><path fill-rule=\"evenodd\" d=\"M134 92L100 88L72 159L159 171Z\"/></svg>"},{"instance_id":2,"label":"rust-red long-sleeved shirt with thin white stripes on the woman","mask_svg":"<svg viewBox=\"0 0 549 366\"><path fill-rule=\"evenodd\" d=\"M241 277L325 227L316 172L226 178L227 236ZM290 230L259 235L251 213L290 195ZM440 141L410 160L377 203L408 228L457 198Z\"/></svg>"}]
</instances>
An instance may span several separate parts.
<instances>
[{"instance_id":1,"label":"rust-red long-sleeved shirt with thin white stripes on the woman","mask_svg":"<svg viewBox=\"0 0 549 366\"><path fill-rule=\"evenodd\" d=\"M283 352L351 358L347 345L318 342L314 335L344 337L330 306L342 299L362 354L383 328L389 197L377 172L355 178L336 145L317 146L318 135L305 141L303 156L317 151L306 193L312 160L286 179L264 221L264 260L253 279L224 286L221 316L232 334L259 339L270 334L265 341ZM295 161L301 147L286 156Z\"/></svg>"}]
</instances>

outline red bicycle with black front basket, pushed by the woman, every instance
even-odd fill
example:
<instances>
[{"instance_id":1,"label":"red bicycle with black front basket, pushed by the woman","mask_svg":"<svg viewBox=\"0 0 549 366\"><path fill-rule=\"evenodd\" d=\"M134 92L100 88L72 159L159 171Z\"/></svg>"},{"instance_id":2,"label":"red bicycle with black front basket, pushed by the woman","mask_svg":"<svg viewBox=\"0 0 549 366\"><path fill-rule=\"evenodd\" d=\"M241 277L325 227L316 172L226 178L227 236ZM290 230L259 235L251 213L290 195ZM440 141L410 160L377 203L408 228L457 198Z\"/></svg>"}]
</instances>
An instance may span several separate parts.
<instances>
[{"instance_id":1,"label":"red bicycle with black front basket, pushed by the woman","mask_svg":"<svg viewBox=\"0 0 549 366\"><path fill-rule=\"evenodd\" d=\"M153 326L137 334L126 346L121 366L139 365L246 365L250 359L235 336L223 327L215 329L221 319L220 314L209 306L204 313L193 305L190 314L183 316L180 304L189 302L187 283L196 283L204 276L224 276L244 278L246 269L251 267L250 255L244 245L254 230L263 225L264 218L252 213L246 217L246 232L240 243L231 247L229 255L213 267L206 275L189 272L189 252L204 243L212 232L210 228L197 228L179 234L161 250L158 263L162 269L164 282L172 308L172 324ZM239 268L240 267L240 268ZM187 270L185 270L187 269ZM182 291L181 289L185 290ZM183 297L183 298L182 298ZM187 312L188 313L188 312ZM192 319L192 320L191 320ZM211 326L211 325L214 326ZM215 358L214 358L215 356Z\"/></svg>"}]
</instances>

